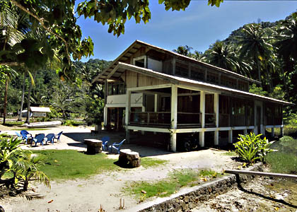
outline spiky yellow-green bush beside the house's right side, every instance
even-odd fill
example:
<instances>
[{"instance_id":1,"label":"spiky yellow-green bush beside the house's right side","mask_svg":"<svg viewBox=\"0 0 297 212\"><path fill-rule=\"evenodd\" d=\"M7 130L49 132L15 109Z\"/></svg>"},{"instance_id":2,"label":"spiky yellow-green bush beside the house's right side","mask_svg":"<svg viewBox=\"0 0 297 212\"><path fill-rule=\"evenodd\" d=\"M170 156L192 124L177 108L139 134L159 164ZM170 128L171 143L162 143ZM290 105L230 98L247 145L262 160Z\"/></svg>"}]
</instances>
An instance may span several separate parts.
<instances>
[{"instance_id":1,"label":"spiky yellow-green bush beside the house's right side","mask_svg":"<svg viewBox=\"0 0 297 212\"><path fill-rule=\"evenodd\" d=\"M233 145L235 146L235 153L238 154L240 159L248 164L255 163L256 160L264 162L267 153L272 151L269 146L274 142L269 143L266 138L261 139L261 135L256 136L252 132L250 135L239 135L239 141Z\"/></svg>"}]
</instances>

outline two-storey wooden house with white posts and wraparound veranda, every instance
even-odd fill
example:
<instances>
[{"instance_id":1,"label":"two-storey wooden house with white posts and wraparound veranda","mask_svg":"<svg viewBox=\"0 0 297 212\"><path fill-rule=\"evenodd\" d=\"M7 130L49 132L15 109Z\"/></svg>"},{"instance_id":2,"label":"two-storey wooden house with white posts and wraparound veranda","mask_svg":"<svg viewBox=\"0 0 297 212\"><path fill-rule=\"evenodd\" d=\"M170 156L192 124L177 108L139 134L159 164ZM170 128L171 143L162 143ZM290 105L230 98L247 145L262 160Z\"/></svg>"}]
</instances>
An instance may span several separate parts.
<instances>
[{"instance_id":1,"label":"two-storey wooden house with white posts and wraparound veranda","mask_svg":"<svg viewBox=\"0 0 297 212\"><path fill-rule=\"evenodd\" d=\"M214 145L233 132L283 129L282 107L289 102L249 93L251 83L238 73L136 40L94 80L105 85L104 125L170 135L213 134ZM235 135L236 136L236 135Z\"/></svg>"}]
</instances>

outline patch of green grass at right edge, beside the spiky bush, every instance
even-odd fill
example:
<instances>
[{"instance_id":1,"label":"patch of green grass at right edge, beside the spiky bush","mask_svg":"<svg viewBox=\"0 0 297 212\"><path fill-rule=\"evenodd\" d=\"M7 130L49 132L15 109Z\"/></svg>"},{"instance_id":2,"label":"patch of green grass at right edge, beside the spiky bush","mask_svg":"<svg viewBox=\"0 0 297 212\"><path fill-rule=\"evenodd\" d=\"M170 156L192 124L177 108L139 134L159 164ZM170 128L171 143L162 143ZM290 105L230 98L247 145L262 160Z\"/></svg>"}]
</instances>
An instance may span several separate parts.
<instances>
[{"instance_id":1,"label":"patch of green grass at right edge, beside the spiky bush","mask_svg":"<svg viewBox=\"0 0 297 212\"><path fill-rule=\"evenodd\" d=\"M266 161L272 172L297 174L297 140L284 136L272 145L276 152L269 153Z\"/></svg>"}]
</instances>

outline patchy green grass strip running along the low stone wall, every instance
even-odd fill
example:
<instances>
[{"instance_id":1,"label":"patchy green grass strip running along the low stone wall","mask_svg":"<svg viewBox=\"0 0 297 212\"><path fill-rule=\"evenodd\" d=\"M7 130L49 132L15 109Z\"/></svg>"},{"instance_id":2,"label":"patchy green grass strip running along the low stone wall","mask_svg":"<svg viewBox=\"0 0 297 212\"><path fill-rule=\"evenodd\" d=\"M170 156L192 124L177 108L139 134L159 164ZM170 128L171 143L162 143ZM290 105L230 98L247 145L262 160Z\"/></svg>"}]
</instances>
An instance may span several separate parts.
<instances>
[{"instance_id":1,"label":"patchy green grass strip running along the low stone wall","mask_svg":"<svg viewBox=\"0 0 297 212\"><path fill-rule=\"evenodd\" d=\"M135 194L141 202L152 196L170 196L170 194L177 192L181 187L193 187L200 182L218 177L219 175L213 170L202 170L200 172L175 170L166 179L158 182L133 182L125 190L130 194ZM143 192L146 192L146 194Z\"/></svg>"}]
</instances>

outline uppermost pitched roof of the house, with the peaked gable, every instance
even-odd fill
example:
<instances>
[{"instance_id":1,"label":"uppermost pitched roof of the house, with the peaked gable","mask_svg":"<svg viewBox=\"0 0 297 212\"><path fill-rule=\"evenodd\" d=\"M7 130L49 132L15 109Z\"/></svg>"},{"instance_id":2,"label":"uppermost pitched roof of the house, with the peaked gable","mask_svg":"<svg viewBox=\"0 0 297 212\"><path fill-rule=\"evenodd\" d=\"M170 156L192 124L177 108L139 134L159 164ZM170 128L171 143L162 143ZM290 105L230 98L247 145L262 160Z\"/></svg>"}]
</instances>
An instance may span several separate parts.
<instances>
[{"instance_id":1,"label":"uppermost pitched roof of the house, with the peaked gable","mask_svg":"<svg viewBox=\"0 0 297 212\"><path fill-rule=\"evenodd\" d=\"M233 71L228 71L226 69L221 69L221 68L219 68L217 66L213 66L211 64L206 64L206 63L204 63L202 61L199 61L197 59L194 59L192 57L187 57L187 56L182 55L182 54L177 54L176 52L171 52L169 50L162 49L161 47L156 47L154 45L150 45L150 44L148 44L146 42L142 42L140 40L135 40L132 43L132 45L130 45L126 50L124 50L124 52L122 52L122 54L120 54L119 57L117 57L117 59L112 61L112 64L110 64L110 66L107 69L105 69L102 73L100 73L98 76L96 76L92 83L94 83L95 81L103 82L103 81L105 81L105 79L110 78L110 74L115 69L115 66L117 66L117 64L119 62L127 61L127 59L129 59L129 57L131 57L134 53L136 53L141 47L148 47L150 49L155 49L158 52L163 52L163 53L169 54L169 55L171 55L173 57L180 57L181 59L186 59L188 61L191 61L192 63L199 64L199 65L204 66L204 67L206 67L208 69L213 69L213 70L216 70L216 71L220 71L222 73L228 73L231 76L235 76L237 78L242 78L242 79L244 79L246 81L250 81L252 83L260 84L259 81L255 81L255 80L253 80L251 78L248 78L246 76L242 76L242 75L240 75L238 73L235 73ZM114 79L120 77L120 76L113 75L113 74L112 74L112 76L114 77Z\"/></svg>"}]
</instances>

